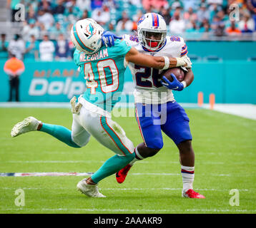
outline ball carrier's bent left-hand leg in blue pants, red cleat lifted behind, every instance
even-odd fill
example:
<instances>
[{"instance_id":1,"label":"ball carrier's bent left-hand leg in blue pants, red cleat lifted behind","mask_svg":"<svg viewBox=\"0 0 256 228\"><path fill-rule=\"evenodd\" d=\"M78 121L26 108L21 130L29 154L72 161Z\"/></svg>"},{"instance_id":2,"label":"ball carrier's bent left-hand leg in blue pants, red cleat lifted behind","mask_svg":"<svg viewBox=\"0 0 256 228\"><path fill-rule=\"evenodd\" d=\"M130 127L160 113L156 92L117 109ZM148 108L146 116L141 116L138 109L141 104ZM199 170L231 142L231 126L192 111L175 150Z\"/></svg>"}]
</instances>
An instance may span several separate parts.
<instances>
[{"instance_id":1,"label":"ball carrier's bent left-hand leg in blue pants, red cleat lifted behind","mask_svg":"<svg viewBox=\"0 0 256 228\"><path fill-rule=\"evenodd\" d=\"M120 184L124 182L134 162L156 155L163 147L160 117L157 113L158 105L136 104L135 115L144 142L135 148L134 160L116 173L117 182Z\"/></svg>"}]
</instances>

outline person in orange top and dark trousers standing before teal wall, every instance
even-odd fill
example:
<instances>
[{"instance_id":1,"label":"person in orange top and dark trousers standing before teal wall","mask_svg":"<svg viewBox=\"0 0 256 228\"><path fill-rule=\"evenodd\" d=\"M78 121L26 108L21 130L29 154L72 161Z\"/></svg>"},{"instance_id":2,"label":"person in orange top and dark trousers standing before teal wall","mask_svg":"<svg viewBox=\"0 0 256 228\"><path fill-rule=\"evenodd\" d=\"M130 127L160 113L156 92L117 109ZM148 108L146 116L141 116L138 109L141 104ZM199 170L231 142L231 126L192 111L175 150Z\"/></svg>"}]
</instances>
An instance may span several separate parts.
<instances>
[{"instance_id":1,"label":"person in orange top and dark trousers standing before teal wall","mask_svg":"<svg viewBox=\"0 0 256 228\"><path fill-rule=\"evenodd\" d=\"M4 72L9 76L9 100L12 101L12 94L15 91L15 100L19 102L19 76L25 70L24 63L11 54L9 60L4 64Z\"/></svg>"}]
</instances>

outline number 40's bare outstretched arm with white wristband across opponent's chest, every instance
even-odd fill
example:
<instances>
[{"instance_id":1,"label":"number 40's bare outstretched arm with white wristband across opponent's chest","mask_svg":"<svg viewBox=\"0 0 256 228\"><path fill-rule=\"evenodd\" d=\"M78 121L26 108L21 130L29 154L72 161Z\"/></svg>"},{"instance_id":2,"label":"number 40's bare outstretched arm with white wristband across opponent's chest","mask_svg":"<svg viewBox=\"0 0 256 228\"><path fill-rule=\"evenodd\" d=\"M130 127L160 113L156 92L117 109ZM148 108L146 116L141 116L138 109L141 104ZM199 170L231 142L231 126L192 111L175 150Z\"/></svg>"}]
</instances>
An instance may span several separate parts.
<instances>
[{"instance_id":1,"label":"number 40's bare outstretched arm with white wristband across opponent's chest","mask_svg":"<svg viewBox=\"0 0 256 228\"><path fill-rule=\"evenodd\" d=\"M139 53L136 48L131 48L125 56L127 62L132 62L140 66L147 66L157 69L168 69L177 66L187 66L187 63L183 58L171 58L167 56L149 56L143 53Z\"/></svg>"}]
</instances>

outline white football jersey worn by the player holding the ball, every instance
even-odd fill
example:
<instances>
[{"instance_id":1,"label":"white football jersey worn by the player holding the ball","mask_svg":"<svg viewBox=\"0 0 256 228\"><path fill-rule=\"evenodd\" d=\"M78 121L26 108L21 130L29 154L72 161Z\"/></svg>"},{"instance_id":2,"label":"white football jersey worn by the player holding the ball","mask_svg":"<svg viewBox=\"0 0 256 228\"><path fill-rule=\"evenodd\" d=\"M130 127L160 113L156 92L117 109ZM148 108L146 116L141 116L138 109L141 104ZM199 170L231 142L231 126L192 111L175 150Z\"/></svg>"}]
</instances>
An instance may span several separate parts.
<instances>
[{"instance_id":1,"label":"white football jersey worn by the player holding the ball","mask_svg":"<svg viewBox=\"0 0 256 228\"><path fill-rule=\"evenodd\" d=\"M158 51L148 51L140 43L137 36L124 35L124 40L129 46L136 48L140 53L152 56L181 57L187 54L187 46L184 39L179 36L167 36L166 42ZM162 70L137 66L129 63L134 81L135 103L160 104L174 100L172 90L162 86L159 74Z\"/></svg>"}]
</instances>

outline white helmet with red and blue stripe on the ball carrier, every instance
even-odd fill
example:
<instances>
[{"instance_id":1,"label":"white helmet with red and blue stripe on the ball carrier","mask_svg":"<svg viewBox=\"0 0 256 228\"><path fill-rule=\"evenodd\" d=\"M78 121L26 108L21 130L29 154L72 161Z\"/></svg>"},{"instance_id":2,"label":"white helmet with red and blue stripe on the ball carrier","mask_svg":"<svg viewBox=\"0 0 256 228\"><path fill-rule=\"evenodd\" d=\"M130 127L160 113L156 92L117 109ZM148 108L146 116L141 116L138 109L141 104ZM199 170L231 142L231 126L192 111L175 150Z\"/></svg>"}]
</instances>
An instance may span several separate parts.
<instances>
[{"instance_id":1,"label":"white helmet with red and blue stripe on the ball carrier","mask_svg":"<svg viewBox=\"0 0 256 228\"><path fill-rule=\"evenodd\" d=\"M144 14L138 21L137 31L139 43L150 51L157 51L166 41L167 26L159 14Z\"/></svg>"}]
</instances>

